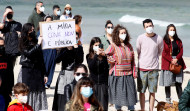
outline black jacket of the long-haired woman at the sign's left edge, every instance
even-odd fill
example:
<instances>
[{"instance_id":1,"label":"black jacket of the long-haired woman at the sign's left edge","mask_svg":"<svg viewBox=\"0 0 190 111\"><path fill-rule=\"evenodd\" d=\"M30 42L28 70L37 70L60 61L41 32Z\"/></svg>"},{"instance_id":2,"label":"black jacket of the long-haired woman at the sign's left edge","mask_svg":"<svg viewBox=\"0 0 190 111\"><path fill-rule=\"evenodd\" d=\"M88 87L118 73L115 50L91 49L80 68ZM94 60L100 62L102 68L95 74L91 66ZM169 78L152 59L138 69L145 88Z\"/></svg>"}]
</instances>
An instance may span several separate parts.
<instances>
[{"instance_id":1,"label":"black jacket of the long-haired woman at the sign's left edge","mask_svg":"<svg viewBox=\"0 0 190 111\"><path fill-rule=\"evenodd\" d=\"M29 86L30 91L44 91L44 76L47 76L41 45L29 45L20 58L22 65L22 82Z\"/></svg>"}]
</instances>

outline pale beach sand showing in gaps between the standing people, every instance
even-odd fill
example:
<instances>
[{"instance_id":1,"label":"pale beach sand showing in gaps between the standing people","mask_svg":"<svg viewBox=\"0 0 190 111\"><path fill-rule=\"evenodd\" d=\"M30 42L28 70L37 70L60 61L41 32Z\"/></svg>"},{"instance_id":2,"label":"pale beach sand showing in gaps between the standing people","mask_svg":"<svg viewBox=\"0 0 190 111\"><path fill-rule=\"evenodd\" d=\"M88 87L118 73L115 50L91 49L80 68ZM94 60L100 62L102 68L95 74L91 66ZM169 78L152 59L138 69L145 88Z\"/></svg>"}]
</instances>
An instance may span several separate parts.
<instances>
[{"instance_id":1,"label":"pale beach sand showing in gaps between the standing people","mask_svg":"<svg viewBox=\"0 0 190 111\"><path fill-rule=\"evenodd\" d=\"M86 63L86 54L88 53L88 47L89 47L88 44L83 44L83 48L84 48L84 62L83 63L84 64L87 64ZM136 57L136 64L137 64L137 54L135 54L135 57ZM15 65L15 68L14 68L15 83L17 82L17 77L18 77L20 67L21 67L19 65L19 61L20 61L20 58L17 59L16 65ZM188 83L188 80L190 79L190 58L184 57L184 61L186 63L187 69L184 70L184 72L185 72L184 73L184 81L183 81L183 84L182 84L183 89L186 87L186 85ZM52 109L55 85L56 85L57 77L59 75L60 70L61 70L61 64L56 64L56 69L55 69L55 73L54 73L53 82L51 84L51 88L46 90L47 97L48 97L48 111L51 111L51 109ZM171 88L171 97L172 97L172 101L173 100L178 101L175 87ZM149 109L149 100L148 100L148 98L149 98L149 93L148 93L148 90L147 90L146 91L146 110L147 111ZM165 101L164 87L158 86L158 90L157 90L157 93L156 93L156 99L158 101ZM157 102L155 102L155 106L156 105L157 105ZM138 99L138 103L135 105L135 109L140 110L139 99ZM122 110L127 111L127 107L122 107ZM156 111L156 109L154 109L154 110ZM114 106L110 106L109 111L115 111Z\"/></svg>"}]
</instances>

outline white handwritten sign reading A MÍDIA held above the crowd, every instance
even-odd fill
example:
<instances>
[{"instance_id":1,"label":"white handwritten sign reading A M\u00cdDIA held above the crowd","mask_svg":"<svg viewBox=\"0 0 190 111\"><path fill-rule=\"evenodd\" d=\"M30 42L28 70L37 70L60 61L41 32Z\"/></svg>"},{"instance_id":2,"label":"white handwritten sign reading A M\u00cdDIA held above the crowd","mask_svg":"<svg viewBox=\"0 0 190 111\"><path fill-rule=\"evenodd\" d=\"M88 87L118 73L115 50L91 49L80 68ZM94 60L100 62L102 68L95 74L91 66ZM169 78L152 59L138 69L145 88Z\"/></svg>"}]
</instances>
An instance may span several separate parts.
<instances>
[{"instance_id":1,"label":"white handwritten sign reading A M\u00cdDIA held above the crowd","mask_svg":"<svg viewBox=\"0 0 190 111\"><path fill-rule=\"evenodd\" d=\"M42 49L54 49L76 44L75 20L40 22Z\"/></svg>"}]
</instances>

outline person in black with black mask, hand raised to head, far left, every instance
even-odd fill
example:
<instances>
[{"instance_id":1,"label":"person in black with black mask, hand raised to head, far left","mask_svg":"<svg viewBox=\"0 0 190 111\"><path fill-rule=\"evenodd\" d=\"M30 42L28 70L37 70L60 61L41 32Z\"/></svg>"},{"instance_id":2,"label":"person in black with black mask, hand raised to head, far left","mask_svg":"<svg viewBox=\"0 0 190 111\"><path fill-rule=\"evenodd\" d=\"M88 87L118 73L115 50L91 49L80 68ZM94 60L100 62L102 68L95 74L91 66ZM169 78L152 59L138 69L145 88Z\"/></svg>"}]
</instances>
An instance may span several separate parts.
<instances>
[{"instance_id":1,"label":"person in black with black mask, hand raised to head, far left","mask_svg":"<svg viewBox=\"0 0 190 111\"><path fill-rule=\"evenodd\" d=\"M12 7L7 6L3 15L3 21L0 25L1 33L5 37L5 53L9 56L9 60L11 62L9 69L11 73L11 88L14 86L14 66L16 58L20 55L18 50L18 41L22 29L22 24L13 20L13 14L14 12Z\"/></svg>"}]
</instances>

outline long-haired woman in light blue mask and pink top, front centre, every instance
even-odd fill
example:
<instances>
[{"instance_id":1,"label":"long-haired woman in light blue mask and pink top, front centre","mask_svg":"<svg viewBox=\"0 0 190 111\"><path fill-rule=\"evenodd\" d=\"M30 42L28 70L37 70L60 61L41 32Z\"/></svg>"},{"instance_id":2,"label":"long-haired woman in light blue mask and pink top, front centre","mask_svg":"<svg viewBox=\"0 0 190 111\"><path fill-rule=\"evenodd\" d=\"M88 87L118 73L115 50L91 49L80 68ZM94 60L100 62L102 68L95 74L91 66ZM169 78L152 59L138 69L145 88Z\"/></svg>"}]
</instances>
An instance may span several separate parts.
<instances>
[{"instance_id":1,"label":"long-haired woman in light blue mask and pink top, front centre","mask_svg":"<svg viewBox=\"0 0 190 111\"><path fill-rule=\"evenodd\" d=\"M77 82L71 100L65 106L65 111L103 111L96 100L94 84L90 78L83 77Z\"/></svg>"}]
</instances>

